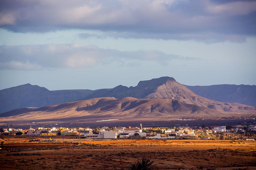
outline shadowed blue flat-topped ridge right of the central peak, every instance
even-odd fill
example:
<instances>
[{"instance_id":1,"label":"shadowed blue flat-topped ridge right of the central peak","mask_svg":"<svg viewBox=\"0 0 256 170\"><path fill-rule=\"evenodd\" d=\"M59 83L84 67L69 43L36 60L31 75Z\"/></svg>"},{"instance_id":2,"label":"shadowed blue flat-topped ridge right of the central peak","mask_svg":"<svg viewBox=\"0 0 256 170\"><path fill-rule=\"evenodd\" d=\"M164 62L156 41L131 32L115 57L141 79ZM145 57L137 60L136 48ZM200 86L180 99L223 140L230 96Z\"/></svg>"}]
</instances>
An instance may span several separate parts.
<instances>
[{"instance_id":1,"label":"shadowed blue flat-topped ridge right of the central peak","mask_svg":"<svg viewBox=\"0 0 256 170\"><path fill-rule=\"evenodd\" d=\"M256 86L219 84L212 86L187 86L202 97L227 103L241 103L256 107Z\"/></svg>"}]
</instances>

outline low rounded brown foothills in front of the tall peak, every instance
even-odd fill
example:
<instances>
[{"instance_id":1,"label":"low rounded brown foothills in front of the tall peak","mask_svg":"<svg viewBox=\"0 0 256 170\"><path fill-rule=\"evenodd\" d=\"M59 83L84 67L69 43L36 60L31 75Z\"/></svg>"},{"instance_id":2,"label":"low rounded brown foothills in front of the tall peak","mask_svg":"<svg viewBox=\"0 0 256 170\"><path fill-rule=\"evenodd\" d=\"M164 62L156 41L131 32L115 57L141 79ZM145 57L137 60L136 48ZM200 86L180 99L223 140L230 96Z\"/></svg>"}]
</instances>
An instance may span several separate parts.
<instances>
[{"instance_id":1,"label":"low rounded brown foothills in front of the tall peak","mask_svg":"<svg viewBox=\"0 0 256 170\"><path fill-rule=\"evenodd\" d=\"M229 104L232 105L232 104ZM212 118L212 117L231 117L234 115L244 116L240 113L256 113L254 107L242 107L232 105L236 109L241 109L239 113L217 111L212 108L186 104L176 99L136 99L125 97L115 99L114 97L94 98L88 100L73 101L58 105L41 108L27 108L27 112L20 112L19 109L0 114L1 121L70 121L81 119L100 119L100 118ZM241 108L242 107L242 108ZM21 108L24 111L26 108ZM14 113L13 113L14 112ZM4 117L7 115L13 115Z\"/></svg>"}]
</instances>

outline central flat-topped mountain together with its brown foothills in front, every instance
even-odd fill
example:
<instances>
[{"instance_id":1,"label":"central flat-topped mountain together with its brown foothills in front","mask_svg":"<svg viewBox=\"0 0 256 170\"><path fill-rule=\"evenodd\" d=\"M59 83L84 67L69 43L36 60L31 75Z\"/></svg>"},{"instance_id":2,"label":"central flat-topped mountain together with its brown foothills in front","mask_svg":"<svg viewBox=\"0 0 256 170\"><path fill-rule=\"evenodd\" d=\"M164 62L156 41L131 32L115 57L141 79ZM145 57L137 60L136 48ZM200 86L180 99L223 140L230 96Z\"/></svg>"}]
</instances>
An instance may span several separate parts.
<instances>
[{"instance_id":1,"label":"central flat-topped mountain together with its brown foothills in front","mask_svg":"<svg viewBox=\"0 0 256 170\"><path fill-rule=\"evenodd\" d=\"M114 117L216 118L256 114L256 108L252 106L222 103L199 96L172 77L140 81L135 87L128 88L120 85L113 89L83 92L86 97L81 97L82 99L78 101L46 107L20 108L0 116L6 117L5 121L67 121ZM48 94L51 94L51 91Z\"/></svg>"}]
</instances>

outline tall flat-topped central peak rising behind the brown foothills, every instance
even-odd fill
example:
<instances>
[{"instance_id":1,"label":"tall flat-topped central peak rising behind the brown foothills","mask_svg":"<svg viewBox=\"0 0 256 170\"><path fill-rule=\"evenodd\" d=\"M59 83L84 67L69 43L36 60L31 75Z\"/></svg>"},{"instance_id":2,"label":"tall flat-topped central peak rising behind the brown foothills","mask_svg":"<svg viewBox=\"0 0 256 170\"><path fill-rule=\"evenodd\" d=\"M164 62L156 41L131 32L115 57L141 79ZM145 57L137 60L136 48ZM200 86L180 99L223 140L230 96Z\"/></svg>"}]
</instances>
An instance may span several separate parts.
<instances>
[{"instance_id":1,"label":"tall flat-topped central peak rising behind the brown foothills","mask_svg":"<svg viewBox=\"0 0 256 170\"><path fill-rule=\"evenodd\" d=\"M186 104L193 104L197 106L208 107L219 112L239 112L240 110L254 111L253 107L248 107L242 104L235 103L221 103L219 101L210 100L201 97L183 84L178 83L172 77L160 77L157 79L140 81L135 87L117 86L110 90L99 90L84 99L95 97L134 97L134 98L160 98L160 99L177 99Z\"/></svg>"}]
</instances>

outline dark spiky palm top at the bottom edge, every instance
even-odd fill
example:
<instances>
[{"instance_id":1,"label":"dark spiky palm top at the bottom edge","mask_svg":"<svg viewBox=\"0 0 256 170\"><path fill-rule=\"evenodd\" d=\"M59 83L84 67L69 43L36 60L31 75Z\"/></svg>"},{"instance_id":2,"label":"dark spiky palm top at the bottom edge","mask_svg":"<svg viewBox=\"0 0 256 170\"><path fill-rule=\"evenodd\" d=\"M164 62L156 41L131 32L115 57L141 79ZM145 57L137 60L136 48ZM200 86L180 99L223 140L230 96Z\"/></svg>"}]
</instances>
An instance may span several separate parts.
<instances>
[{"instance_id":1,"label":"dark spiky palm top at the bottom edge","mask_svg":"<svg viewBox=\"0 0 256 170\"><path fill-rule=\"evenodd\" d=\"M142 160L137 160L137 163L134 163L128 167L128 170L153 170L155 165L152 165L153 161L150 162L148 158L142 158Z\"/></svg>"}]
</instances>

